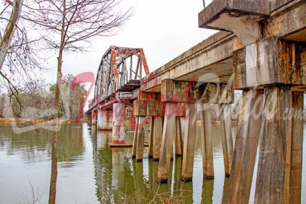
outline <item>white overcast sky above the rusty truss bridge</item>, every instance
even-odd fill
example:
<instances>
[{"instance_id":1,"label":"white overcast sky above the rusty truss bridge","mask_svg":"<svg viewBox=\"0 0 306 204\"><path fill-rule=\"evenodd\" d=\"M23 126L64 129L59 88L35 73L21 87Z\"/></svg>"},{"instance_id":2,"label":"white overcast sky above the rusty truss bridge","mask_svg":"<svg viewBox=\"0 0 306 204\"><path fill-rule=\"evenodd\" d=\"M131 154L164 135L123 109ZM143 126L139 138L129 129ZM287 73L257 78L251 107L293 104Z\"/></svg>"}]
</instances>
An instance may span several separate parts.
<instances>
[{"instance_id":1,"label":"white overcast sky above the rusty truss bridge","mask_svg":"<svg viewBox=\"0 0 306 204\"><path fill-rule=\"evenodd\" d=\"M206 0L206 6L210 2ZM204 8L202 0L128 0L123 3L123 6L133 7L134 16L117 35L95 38L90 52L64 54L64 75L96 73L102 55L112 45L143 48L148 67L154 71L216 32L198 27L198 13ZM52 71L46 73L47 78L55 81L56 63L50 63L49 68Z\"/></svg>"}]
</instances>

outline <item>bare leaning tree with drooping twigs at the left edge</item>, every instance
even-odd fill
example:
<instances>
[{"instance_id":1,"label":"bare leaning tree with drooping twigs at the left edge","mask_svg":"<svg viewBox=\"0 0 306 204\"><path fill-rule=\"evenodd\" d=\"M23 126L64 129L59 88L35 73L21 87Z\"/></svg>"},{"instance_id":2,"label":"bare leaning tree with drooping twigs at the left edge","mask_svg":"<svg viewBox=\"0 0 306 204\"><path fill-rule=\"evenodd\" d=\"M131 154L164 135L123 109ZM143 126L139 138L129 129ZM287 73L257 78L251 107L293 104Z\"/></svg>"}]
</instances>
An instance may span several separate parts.
<instances>
[{"instance_id":1,"label":"bare leaning tree with drooping twigs at the left edge","mask_svg":"<svg viewBox=\"0 0 306 204\"><path fill-rule=\"evenodd\" d=\"M39 35L28 38L20 16L24 0L1 1L0 9L0 76L1 88L12 98L20 102L20 85L35 76L33 68L42 68L35 49ZM44 60L44 59L43 59Z\"/></svg>"}]
</instances>

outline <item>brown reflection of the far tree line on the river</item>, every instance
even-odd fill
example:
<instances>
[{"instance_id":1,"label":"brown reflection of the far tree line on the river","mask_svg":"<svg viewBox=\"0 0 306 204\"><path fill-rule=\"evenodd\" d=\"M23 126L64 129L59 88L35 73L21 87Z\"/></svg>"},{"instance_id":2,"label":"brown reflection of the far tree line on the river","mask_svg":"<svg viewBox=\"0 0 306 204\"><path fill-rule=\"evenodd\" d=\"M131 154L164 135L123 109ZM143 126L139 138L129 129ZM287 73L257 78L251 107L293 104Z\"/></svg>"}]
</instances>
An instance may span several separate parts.
<instances>
[{"instance_id":1,"label":"brown reflection of the far tree line on the river","mask_svg":"<svg viewBox=\"0 0 306 204\"><path fill-rule=\"evenodd\" d=\"M25 162L40 160L45 152L51 155L52 132L46 130L14 134L9 124L1 124L0 150L6 155L22 155ZM83 126L66 124L61 126L57 137L59 162L73 162L83 155ZM20 154L20 152L22 152Z\"/></svg>"}]
</instances>

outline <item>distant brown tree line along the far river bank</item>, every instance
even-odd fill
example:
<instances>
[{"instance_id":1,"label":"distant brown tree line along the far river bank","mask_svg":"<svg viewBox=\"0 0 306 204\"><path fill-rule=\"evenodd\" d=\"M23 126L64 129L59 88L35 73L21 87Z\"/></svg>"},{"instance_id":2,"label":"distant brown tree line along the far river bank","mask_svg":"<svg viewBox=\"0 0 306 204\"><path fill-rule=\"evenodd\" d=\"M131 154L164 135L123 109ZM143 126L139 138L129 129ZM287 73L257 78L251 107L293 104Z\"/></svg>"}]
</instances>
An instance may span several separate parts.
<instances>
[{"instance_id":1,"label":"distant brown tree line along the far river bank","mask_svg":"<svg viewBox=\"0 0 306 204\"><path fill-rule=\"evenodd\" d=\"M61 94L57 115L63 119L76 120L82 110L86 97L86 88L83 84L71 87L74 76L67 74L61 80ZM9 88L8 88L9 90ZM1 118L23 119L53 119L54 95L56 84L46 83L45 80L31 80L18 88L18 96L13 90L2 92L0 95Z\"/></svg>"}]
</instances>

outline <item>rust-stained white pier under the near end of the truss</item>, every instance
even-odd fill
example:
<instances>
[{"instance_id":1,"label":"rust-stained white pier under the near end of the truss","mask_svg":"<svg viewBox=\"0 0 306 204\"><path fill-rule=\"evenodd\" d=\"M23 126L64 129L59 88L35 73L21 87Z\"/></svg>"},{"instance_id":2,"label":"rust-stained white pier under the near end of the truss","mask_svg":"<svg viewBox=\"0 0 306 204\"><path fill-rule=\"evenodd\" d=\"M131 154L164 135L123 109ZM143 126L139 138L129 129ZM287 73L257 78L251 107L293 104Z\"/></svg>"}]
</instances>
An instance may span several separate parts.
<instances>
[{"instance_id":1,"label":"rust-stained white pier under the near end of the truss","mask_svg":"<svg viewBox=\"0 0 306 204\"><path fill-rule=\"evenodd\" d=\"M124 143L124 121L126 119L125 104L120 102L114 103L112 113L112 143L122 144Z\"/></svg>"}]
</instances>

